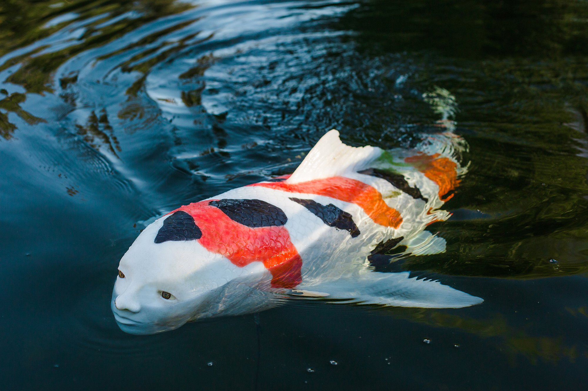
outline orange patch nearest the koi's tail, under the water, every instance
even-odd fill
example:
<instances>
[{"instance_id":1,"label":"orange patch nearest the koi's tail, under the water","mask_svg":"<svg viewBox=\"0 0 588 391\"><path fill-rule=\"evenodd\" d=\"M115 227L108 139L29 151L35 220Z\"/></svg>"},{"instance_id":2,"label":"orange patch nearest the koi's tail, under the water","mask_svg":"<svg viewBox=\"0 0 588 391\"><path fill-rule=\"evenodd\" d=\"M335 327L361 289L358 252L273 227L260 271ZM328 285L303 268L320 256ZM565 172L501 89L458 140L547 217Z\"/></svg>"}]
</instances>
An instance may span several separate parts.
<instances>
[{"instance_id":1,"label":"orange patch nearest the koi's tail, under the water","mask_svg":"<svg viewBox=\"0 0 588 391\"><path fill-rule=\"evenodd\" d=\"M439 157L440 154L426 155L419 153L415 156L405 158L406 163L412 164L417 170L425 174L439 186L439 198L449 193L449 191L459 186L460 180L457 179L457 163L447 157ZM441 201L448 201L453 194L442 198Z\"/></svg>"}]
</instances>

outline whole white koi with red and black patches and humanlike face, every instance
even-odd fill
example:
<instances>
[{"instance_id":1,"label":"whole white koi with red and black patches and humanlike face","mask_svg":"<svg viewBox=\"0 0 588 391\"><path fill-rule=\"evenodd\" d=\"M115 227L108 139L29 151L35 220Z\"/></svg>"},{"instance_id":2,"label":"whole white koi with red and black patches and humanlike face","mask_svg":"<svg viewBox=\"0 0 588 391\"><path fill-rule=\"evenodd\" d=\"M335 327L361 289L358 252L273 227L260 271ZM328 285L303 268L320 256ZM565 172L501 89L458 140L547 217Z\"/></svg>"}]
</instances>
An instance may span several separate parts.
<instances>
[{"instance_id":1,"label":"whole white koi with red and black patches and humanlike face","mask_svg":"<svg viewBox=\"0 0 588 391\"><path fill-rule=\"evenodd\" d=\"M159 218L121 259L112 311L123 331L247 314L288 295L337 302L459 308L482 299L408 272L370 270L370 254L406 245L445 251L423 231L464 171L460 140L437 134L416 150L350 147L331 130L291 176L236 188ZM445 197L445 198L443 198Z\"/></svg>"}]
</instances>

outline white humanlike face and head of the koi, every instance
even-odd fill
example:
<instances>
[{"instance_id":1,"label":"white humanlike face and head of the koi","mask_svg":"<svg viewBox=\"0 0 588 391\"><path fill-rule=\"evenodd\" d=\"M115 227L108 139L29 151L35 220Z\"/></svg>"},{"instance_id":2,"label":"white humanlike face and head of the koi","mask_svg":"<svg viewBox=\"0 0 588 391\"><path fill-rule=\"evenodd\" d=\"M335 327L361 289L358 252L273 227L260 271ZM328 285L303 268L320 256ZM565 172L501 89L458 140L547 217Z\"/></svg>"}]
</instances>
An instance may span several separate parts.
<instances>
[{"instance_id":1,"label":"white humanlike face and head of the koi","mask_svg":"<svg viewBox=\"0 0 588 391\"><path fill-rule=\"evenodd\" d=\"M263 271L260 262L236 267L195 238L159 240L164 220L145 228L119 264L111 309L122 331L152 334L212 316L224 285Z\"/></svg>"}]
</instances>

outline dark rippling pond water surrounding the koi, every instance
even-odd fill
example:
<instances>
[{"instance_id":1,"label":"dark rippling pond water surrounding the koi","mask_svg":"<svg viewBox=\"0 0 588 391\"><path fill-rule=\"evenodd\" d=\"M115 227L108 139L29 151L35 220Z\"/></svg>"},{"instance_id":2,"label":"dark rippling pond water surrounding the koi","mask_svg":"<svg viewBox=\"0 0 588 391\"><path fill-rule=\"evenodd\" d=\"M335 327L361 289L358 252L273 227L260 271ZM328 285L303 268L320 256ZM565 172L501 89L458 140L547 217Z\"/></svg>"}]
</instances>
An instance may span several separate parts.
<instances>
[{"instance_id":1,"label":"dark rippling pond water surrounding the koi","mask_svg":"<svg viewBox=\"0 0 588 391\"><path fill-rule=\"evenodd\" d=\"M583 389L586 15L573 0L2 2L2 389ZM431 226L447 252L377 267L484 304L293 302L118 329L116 267L153 218L292 172L332 127L409 146L438 89L471 162Z\"/></svg>"}]
</instances>

